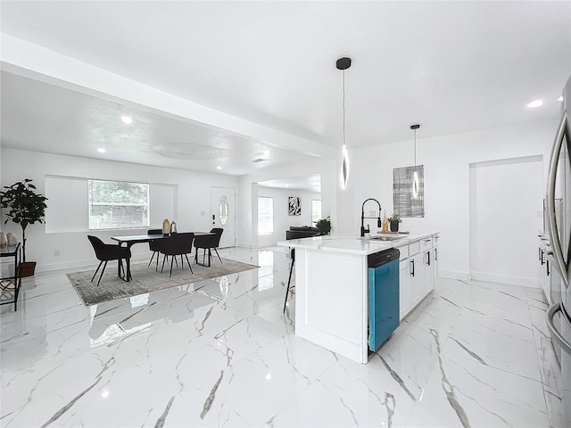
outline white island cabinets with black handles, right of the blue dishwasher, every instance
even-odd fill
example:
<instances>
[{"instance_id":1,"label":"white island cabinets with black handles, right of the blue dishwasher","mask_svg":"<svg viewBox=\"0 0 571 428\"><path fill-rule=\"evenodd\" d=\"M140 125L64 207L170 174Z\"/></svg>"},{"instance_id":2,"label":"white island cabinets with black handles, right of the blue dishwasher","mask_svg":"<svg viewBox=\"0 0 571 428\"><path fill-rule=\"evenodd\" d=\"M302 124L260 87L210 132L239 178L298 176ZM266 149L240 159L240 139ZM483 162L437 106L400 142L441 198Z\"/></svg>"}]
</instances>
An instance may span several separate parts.
<instances>
[{"instance_id":1,"label":"white island cabinets with black handles, right of the blue dishwasher","mask_svg":"<svg viewBox=\"0 0 571 428\"><path fill-rule=\"evenodd\" d=\"M409 244L410 257L402 258L400 279L400 316L405 317L429 292L438 277L438 247L434 236ZM401 254L403 251L401 251ZM404 252L406 254L406 252Z\"/></svg>"}]
</instances>

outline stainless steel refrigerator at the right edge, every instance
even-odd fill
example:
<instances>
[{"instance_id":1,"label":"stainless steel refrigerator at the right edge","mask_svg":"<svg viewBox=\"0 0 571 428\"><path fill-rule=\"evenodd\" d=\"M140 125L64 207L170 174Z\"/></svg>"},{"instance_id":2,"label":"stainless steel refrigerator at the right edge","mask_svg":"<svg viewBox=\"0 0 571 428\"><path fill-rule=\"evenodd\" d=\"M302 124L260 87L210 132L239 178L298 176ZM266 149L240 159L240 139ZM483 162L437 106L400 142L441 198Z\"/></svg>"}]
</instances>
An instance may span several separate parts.
<instances>
[{"instance_id":1,"label":"stainless steel refrigerator at the right edge","mask_svg":"<svg viewBox=\"0 0 571 428\"><path fill-rule=\"evenodd\" d=\"M551 150L547 183L547 232L559 271L559 293L547 311L551 340L561 363L563 426L571 427L571 77L563 89L561 118ZM557 202L559 199L562 202ZM562 203L563 215L558 215Z\"/></svg>"}]
</instances>

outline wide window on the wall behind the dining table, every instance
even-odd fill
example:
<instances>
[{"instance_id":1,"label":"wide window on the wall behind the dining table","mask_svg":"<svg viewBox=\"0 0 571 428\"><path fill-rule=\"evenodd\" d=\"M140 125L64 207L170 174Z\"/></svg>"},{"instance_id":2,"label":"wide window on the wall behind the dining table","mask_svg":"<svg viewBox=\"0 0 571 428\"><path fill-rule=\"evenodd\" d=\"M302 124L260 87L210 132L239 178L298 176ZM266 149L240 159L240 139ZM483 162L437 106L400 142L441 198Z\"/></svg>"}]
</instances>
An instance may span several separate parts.
<instances>
[{"instance_id":1,"label":"wide window on the wall behind the dining table","mask_svg":"<svg viewBox=\"0 0 571 428\"><path fill-rule=\"evenodd\" d=\"M89 180L89 229L149 226L149 185Z\"/></svg>"}]
</instances>

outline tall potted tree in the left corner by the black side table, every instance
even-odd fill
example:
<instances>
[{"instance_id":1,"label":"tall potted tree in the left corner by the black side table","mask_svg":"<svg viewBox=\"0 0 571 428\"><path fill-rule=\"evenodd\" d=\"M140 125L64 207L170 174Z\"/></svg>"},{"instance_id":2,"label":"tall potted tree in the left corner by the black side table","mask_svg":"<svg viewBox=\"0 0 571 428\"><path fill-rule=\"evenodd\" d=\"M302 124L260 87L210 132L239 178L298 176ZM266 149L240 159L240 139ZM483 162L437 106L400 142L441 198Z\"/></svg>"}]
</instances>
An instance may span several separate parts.
<instances>
[{"instance_id":1,"label":"tall potted tree in the left corner by the black side table","mask_svg":"<svg viewBox=\"0 0 571 428\"><path fill-rule=\"evenodd\" d=\"M21 276L33 276L36 269L35 261L26 261L26 227L34 223L45 223L46 201L43 194L36 193L36 186L32 185L29 178L19 181L13 185L4 185L5 190L0 192L0 207L8 208L6 220L12 220L21 226L21 251L22 262L20 267Z\"/></svg>"}]
</instances>

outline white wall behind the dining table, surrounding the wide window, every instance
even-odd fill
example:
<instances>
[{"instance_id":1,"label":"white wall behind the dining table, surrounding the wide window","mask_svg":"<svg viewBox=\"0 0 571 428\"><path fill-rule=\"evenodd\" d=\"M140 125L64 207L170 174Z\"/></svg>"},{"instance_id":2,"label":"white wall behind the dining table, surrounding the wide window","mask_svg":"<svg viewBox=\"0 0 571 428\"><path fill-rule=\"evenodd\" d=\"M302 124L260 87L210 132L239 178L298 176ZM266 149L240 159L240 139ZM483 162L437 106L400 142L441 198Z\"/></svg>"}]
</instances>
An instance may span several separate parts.
<instances>
[{"instance_id":1,"label":"white wall behind the dining table, surrounding the wide window","mask_svg":"<svg viewBox=\"0 0 571 428\"><path fill-rule=\"evenodd\" d=\"M12 185L23 178L31 178L37 186L39 193L46 193L46 175L88 177L120 181L137 181L143 183L158 183L178 187L177 202L175 203L179 232L200 231L211 229L211 186L219 185L237 187L237 177L221 174L203 174L183 171L179 169L166 169L148 167L131 163L112 161L99 161L93 159L77 158L46 154L40 152L26 152L21 150L2 149L2 177L1 185ZM49 207L49 201L47 201ZM70 204L77 203L72 198ZM204 215L202 212L204 211ZM161 227L152 224L151 227ZM153 220L154 221L154 220ZM3 227L5 232L13 232L21 238L20 226L8 222ZM97 231L93 235L99 236L106 243L112 243L112 235L137 235L145 229L129 229L120 231ZM29 226L27 236L27 259L37 261L37 269L48 270L55 268L80 267L95 262L91 245L87 241L87 229L64 233L47 233L45 225ZM134 258L145 258L148 245L136 244L132 247ZM55 256L59 251L60 256ZM150 257L150 254L149 254Z\"/></svg>"}]
</instances>

